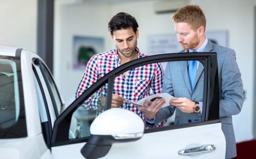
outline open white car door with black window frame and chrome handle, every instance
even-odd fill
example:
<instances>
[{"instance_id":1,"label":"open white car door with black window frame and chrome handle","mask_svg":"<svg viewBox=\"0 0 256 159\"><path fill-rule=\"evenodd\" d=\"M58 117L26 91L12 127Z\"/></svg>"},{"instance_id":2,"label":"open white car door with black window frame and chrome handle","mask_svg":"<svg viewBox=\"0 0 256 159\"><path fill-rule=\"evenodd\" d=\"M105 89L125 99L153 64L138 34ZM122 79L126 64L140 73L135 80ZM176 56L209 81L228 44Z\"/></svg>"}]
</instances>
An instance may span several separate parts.
<instances>
[{"instance_id":1,"label":"open white car door with black window frame and chrome handle","mask_svg":"<svg viewBox=\"0 0 256 159\"><path fill-rule=\"evenodd\" d=\"M194 89L195 94L190 95L192 92L189 77L183 76L183 70L187 70L187 62L189 60L198 60L200 63L198 64L198 70L201 70L200 74L196 76L195 80L200 81L197 85L197 88ZM110 109L111 107L111 99L112 93L114 93L115 89L115 78L122 75L123 73L128 71L127 77L131 77L131 71L137 70L137 67L151 64L151 63L158 63L158 62L171 62L173 63L170 66L166 66L166 68L175 68L171 69L171 75L167 78L167 80L171 80L172 82L176 82L176 86L179 85L180 80L184 79L185 88L176 88L173 89L172 83L168 84L168 92L175 97L187 97L189 99L199 101L203 103L202 112L201 114L186 114L185 118L180 118L176 123L169 123L167 126L154 128L154 129L146 129L144 136L136 142L120 142L114 143L112 142L112 147L110 150L105 151L103 154L104 158L112 159L112 158L175 158L175 159L186 159L188 156L181 156L178 154L179 150L188 149L188 148L197 148L201 147L202 145L210 144L214 145L216 149L210 153L204 154L194 154L190 155L190 158L197 158L197 159L205 159L205 158L224 158L225 156L225 137L223 132L221 131L221 124L219 121L219 87L218 87L218 68L217 68L217 57L216 53L195 53L193 55L187 53L177 53L177 54L163 54L159 56L151 56L140 58L137 60L133 60L128 62L113 71L109 74L106 74L101 79L99 79L94 85L87 88L80 96L60 115L59 118L56 119L53 135L52 135L52 153L55 158L84 158L81 154L81 148L87 142L88 137L90 137L89 133L86 132L85 135L81 135L83 133L80 132L79 120L77 118L81 115L79 112L84 113L88 111L86 106L86 100L93 97L98 99L97 97L102 97L102 94L98 95L98 90L104 85L108 84L107 93L106 93L106 104L104 105L104 110ZM182 64L180 64L182 63ZM201 69L199 69L200 66ZM150 67L152 68L152 67ZM165 72L168 69L165 68ZM143 69L145 70L145 69ZM143 71L142 70L142 71ZM150 71L150 69L148 70ZM151 73L150 73L151 74ZM149 74L149 75L150 75ZM177 77L177 74L180 74ZM167 74L165 74L167 76ZM142 72L140 81L146 82L147 73ZM157 76L158 77L158 76ZM139 78L139 77L138 77ZM135 79L138 79L135 78ZM129 78L128 78L129 79ZM134 82L132 80L124 80L124 82L128 82L129 85L133 85ZM165 79L164 79L165 80ZM139 82L140 82L139 81ZM135 81L137 82L137 81ZM160 83L160 82L158 82ZM135 83L137 84L137 83ZM141 83L138 83L141 84ZM127 84L128 85L128 84ZM199 87L198 87L199 85ZM126 89L126 85L124 86L124 90ZM186 95L183 91L187 89ZM182 91L177 91L182 90ZM128 91L129 92L129 91ZM140 90L131 91L131 93L141 93ZM142 91L144 92L144 91ZM198 93L197 93L198 92ZM150 93L149 93L150 94ZM194 95L194 96L193 96ZM94 97L95 96L95 97ZM104 95L103 95L104 96ZM122 97L126 98L125 92ZM147 95L145 95L146 97ZM191 96L191 97L190 97ZM141 97L143 98L143 96ZM132 99L130 99L132 100ZM135 101L137 101L136 99ZM98 110L98 103L97 100L92 100L91 104L95 105L95 110ZM168 101L169 102L169 101ZM89 102L90 103L90 102ZM84 107L83 109L80 109ZM126 108L126 107L123 107ZM130 109L129 109L130 110ZM132 111L134 109L131 109ZM135 112L135 111L133 111ZM79 114L79 115L76 115ZM168 114L168 112L167 112ZM100 114L99 114L100 115ZM171 115L171 113L170 113ZM175 116L181 115L181 112L176 110ZM113 116L113 115L111 115ZM197 118L195 118L195 116ZM97 117L97 115L96 115ZM179 116L178 116L179 117ZM98 118L99 119L99 118ZM143 119L143 116L142 116ZM161 119L161 118L160 118ZM160 121L157 121L157 123ZM193 119L193 120L192 120ZM210 120L210 121L209 121ZM70 123L71 121L71 123ZM74 121L74 122L73 122ZM72 124L74 123L74 124ZM173 125L174 124L174 125ZM89 125L90 126L90 125ZM81 130L88 130L89 126L83 127ZM79 131L77 131L79 128ZM127 126L127 129L129 126ZM113 127L114 129L114 127ZM72 131L73 130L73 131ZM72 131L72 136L70 136L70 131ZM115 135L114 133L111 134L112 136ZM135 132L134 132L135 133ZM88 134L88 135L86 135ZM97 134L92 134L93 136ZM120 135L120 134L117 134ZM121 134L122 135L122 134ZM88 137L87 137L88 136ZM101 137L108 137L110 134L101 134ZM94 138L90 137L91 140ZM98 143L94 143L90 141L90 144L97 145ZM122 143L121 143L122 142ZM87 144L88 145L88 144ZM94 151L95 149L88 149L89 153L97 153ZM83 151L85 152L85 151ZM85 153L84 153L85 154ZM86 156L87 154L85 154ZM92 154L93 155L93 154Z\"/></svg>"}]
</instances>

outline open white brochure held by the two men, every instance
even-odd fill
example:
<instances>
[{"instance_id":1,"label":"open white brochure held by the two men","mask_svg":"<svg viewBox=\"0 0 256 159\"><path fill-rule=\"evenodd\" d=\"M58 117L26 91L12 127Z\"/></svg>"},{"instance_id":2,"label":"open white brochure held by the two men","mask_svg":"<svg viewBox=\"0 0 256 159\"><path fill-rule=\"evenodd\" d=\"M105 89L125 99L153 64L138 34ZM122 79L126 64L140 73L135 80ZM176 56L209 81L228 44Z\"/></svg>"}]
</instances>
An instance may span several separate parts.
<instances>
[{"instance_id":1,"label":"open white brochure held by the two men","mask_svg":"<svg viewBox=\"0 0 256 159\"><path fill-rule=\"evenodd\" d=\"M173 96L171 96L168 93L160 93L160 94L154 94L152 96L148 96L148 97L142 98L142 99L140 99L137 102L132 102L132 101L130 101L128 99L125 99L125 98L123 98L123 99L124 99L124 102L127 102L129 104L134 104L134 105L140 105L140 106L143 107L146 100L148 100L149 102L153 102L156 98L158 98L158 99L165 99L165 104L162 107L166 107L166 106L170 105L169 101L171 99L175 99L176 97L173 97Z\"/></svg>"}]
</instances>

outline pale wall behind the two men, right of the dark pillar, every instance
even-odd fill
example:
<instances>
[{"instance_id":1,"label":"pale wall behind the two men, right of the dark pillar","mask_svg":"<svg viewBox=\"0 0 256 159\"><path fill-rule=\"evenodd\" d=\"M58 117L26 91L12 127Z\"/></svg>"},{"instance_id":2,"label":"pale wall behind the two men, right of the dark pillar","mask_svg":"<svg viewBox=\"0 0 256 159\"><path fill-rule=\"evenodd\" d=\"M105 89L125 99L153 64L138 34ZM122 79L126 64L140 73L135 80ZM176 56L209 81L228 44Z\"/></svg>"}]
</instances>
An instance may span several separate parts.
<instances>
[{"instance_id":1,"label":"pale wall behind the two men, right of the dark pillar","mask_svg":"<svg viewBox=\"0 0 256 159\"><path fill-rule=\"evenodd\" d=\"M158 1L158 0L156 0ZM100 36L105 38L105 51L113 49L107 24L117 12L126 11L138 23L140 38L138 47L146 52L146 38L152 34L171 34L174 26L171 13L156 15L154 1L120 4L73 4L59 6L60 32L58 57L55 57L55 79L67 105L73 101L83 71L72 69L73 35ZM233 116L237 142L252 138L253 113L253 60L254 60L254 13L255 0L190 0L201 6L207 17L207 31L227 30L229 47L237 52L237 62L242 73L246 99L242 112ZM55 19L56 20L56 19ZM57 65L56 65L57 64Z\"/></svg>"}]
</instances>

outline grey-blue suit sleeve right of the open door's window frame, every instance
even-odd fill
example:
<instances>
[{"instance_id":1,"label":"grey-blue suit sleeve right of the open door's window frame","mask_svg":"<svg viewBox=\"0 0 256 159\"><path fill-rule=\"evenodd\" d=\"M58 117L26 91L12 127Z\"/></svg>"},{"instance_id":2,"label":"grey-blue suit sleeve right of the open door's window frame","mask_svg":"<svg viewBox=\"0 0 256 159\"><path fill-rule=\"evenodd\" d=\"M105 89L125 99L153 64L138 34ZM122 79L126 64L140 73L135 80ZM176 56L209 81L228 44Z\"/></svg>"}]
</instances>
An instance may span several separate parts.
<instances>
[{"instance_id":1,"label":"grey-blue suit sleeve right of the open door's window frame","mask_svg":"<svg viewBox=\"0 0 256 159\"><path fill-rule=\"evenodd\" d=\"M219 117L238 114L244 103L244 90L241 73L236 62L236 53L232 49L228 50L224 58L221 84Z\"/></svg>"}]
</instances>

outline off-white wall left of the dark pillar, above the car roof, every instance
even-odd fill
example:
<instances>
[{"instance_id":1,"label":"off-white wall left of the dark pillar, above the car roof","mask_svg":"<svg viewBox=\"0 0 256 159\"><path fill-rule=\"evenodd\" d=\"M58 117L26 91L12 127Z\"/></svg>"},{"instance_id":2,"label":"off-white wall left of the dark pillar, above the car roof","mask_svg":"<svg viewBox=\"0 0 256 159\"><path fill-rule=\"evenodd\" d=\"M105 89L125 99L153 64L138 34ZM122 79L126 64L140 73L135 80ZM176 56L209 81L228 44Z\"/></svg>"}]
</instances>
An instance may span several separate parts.
<instances>
[{"instance_id":1,"label":"off-white wall left of the dark pillar, above the car roof","mask_svg":"<svg viewBox=\"0 0 256 159\"><path fill-rule=\"evenodd\" d=\"M0 45L37 51L37 0L0 0Z\"/></svg>"}]
</instances>

